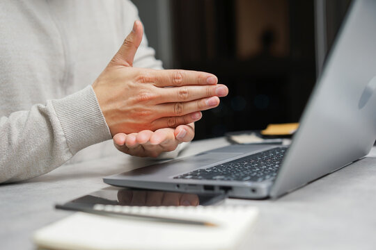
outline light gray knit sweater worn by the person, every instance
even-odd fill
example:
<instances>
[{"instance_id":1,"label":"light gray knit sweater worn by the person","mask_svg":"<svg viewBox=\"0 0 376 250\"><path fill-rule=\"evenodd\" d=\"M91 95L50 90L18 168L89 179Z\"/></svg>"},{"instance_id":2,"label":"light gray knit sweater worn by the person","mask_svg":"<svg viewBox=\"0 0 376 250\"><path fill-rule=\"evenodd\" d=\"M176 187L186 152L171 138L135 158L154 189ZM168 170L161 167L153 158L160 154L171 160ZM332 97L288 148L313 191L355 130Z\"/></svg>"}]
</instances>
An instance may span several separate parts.
<instances>
[{"instance_id":1,"label":"light gray knit sweater worn by the person","mask_svg":"<svg viewBox=\"0 0 376 250\"><path fill-rule=\"evenodd\" d=\"M130 1L1 1L0 183L116 151L91 84L135 19ZM146 39L134 67L162 68Z\"/></svg>"}]
</instances>

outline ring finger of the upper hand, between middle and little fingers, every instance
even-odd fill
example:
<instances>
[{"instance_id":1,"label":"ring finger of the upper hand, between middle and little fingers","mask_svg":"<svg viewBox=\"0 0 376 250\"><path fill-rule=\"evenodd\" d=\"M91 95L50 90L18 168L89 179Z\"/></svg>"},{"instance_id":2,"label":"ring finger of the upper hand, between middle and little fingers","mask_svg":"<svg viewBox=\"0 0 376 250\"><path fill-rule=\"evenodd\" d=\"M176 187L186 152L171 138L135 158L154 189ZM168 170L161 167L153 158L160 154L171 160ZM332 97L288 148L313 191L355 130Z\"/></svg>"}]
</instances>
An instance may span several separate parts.
<instances>
[{"instance_id":1,"label":"ring finger of the upper hand, between middle and little fingers","mask_svg":"<svg viewBox=\"0 0 376 250\"><path fill-rule=\"evenodd\" d=\"M183 103L162 103L158 105L159 113L164 116L182 116L198 110L208 110L219 105L218 97L209 97Z\"/></svg>"}]
</instances>

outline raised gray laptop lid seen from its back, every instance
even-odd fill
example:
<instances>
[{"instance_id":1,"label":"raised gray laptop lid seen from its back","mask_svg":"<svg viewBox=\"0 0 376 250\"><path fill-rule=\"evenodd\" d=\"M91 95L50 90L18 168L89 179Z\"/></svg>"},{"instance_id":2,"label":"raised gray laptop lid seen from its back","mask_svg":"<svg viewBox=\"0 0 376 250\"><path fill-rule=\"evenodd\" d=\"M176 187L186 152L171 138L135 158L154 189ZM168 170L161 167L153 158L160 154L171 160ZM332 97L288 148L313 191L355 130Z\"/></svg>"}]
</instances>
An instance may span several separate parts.
<instances>
[{"instance_id":1,"label":"raised gray laptop lid seen from its back","mask_svg":"<svg viewBox=\"0 0 376 250\"><path fill-rule=\"evenodd\" d=\"M354 1L279 170L278 197L366 156L376 138L376 1Z\"/></svg>"}]
</instances>

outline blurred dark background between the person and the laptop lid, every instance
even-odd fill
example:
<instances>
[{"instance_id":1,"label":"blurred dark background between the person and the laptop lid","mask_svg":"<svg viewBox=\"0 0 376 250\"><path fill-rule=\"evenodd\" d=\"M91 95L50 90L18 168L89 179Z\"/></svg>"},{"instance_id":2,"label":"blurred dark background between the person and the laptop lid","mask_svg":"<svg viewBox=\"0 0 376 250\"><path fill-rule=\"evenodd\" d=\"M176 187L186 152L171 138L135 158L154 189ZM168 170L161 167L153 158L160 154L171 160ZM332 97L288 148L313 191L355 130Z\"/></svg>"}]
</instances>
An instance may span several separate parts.
<instances>
[{"instance_id":1,"label":"blurred dark background between the person and the laptop lid","mask_svg":"<svg viewBox=\"0 0 376 250\"><path fill-rule=\"evenodd\" d=\"M350 0L133 0L166 69L228 86L195 140L299 122Z\"/></svg>"}]
</instances>

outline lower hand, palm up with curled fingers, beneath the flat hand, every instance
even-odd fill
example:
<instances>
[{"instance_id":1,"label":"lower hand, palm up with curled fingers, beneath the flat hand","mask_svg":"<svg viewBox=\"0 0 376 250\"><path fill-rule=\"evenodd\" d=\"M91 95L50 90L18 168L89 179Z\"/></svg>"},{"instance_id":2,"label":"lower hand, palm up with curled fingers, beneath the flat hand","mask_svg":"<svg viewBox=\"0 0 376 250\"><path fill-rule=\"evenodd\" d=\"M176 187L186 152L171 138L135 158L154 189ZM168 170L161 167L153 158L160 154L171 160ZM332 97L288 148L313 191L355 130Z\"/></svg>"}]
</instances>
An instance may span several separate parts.
<instances>
[{"instance_id":1,"label":"lower hand, palm up with curled fingers, beneath the flat hand","mask_svg":"<svg viewBox=\"0 0 376 250\"><path fill-rule=\"evenodd\" d=\"M177 128L159 128L157 131L139 133L118 133L113 136L113 144L123 153L131 156L157 157L162 152L173 151L181 142L194 138L194 124L180 125Z\"/></svg>"}]
</instances>

